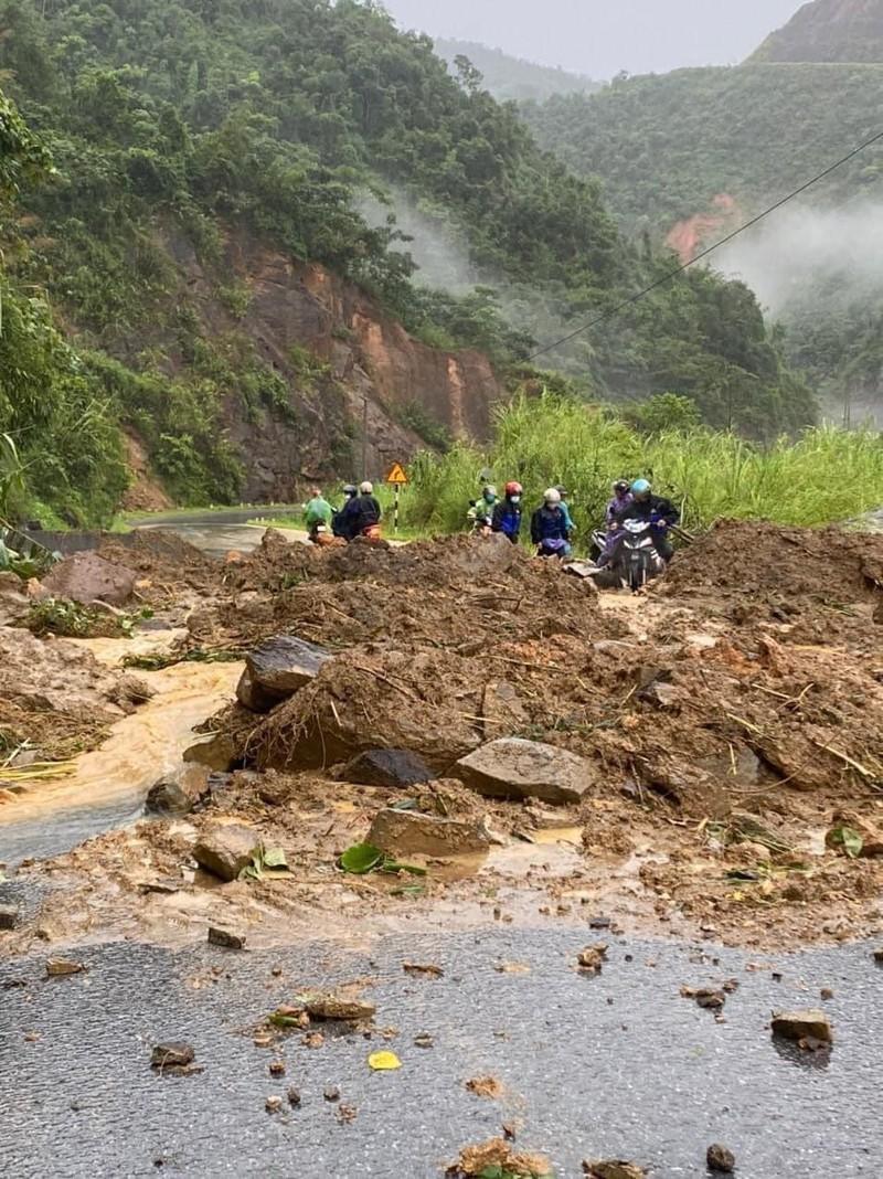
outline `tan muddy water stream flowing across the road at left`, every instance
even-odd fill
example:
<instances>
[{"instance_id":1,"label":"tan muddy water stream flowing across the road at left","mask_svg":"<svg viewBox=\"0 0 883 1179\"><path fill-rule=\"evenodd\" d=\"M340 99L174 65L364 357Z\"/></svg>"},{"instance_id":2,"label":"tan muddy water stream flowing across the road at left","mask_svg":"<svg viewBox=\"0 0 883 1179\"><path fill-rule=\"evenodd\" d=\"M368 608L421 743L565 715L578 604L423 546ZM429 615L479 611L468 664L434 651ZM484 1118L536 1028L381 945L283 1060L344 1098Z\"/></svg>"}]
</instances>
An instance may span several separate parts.
<instances>
[{"instance_id":1,"label":"tan muddy water stream flowing across the road at left","mask_svg":"<svg viewBox=\"0 0 883 1179\"><path fill-rule=\"evenodd\" d=\"M154 631L129 639L81 639L108 666L124 654L167 647L173 632ZM123 717L110 738L75 759L65 778L34 782L0 804L0 862L58 855L84 839L137 818L147 790L173 771L193 744L193 726L226 704L242 664L178 664L139 672L156 694Z\"/></svg>"}]
</instances>

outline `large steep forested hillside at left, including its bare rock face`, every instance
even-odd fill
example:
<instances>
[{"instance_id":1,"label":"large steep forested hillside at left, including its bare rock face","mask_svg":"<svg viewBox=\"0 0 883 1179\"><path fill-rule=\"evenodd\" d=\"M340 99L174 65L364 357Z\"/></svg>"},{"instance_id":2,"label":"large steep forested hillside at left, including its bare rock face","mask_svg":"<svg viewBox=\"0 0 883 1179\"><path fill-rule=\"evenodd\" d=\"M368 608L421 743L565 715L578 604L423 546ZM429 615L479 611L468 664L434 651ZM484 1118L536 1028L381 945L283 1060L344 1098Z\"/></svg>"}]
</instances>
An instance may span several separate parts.
<instances>
[{"instance_id":1,"label":"large steep forested hillside at left, including its bare rock face","mask_svg":"<svg viewBox=\"0 0 883 1179\"><path fill-rule=\"evenodd\" d=\"M7 410L0 429L24 432L34 494L74 519L118 496L120 429L191 502L351 475L363 404L377 461L378 439L480 432L518 383L534 308L545 336L670 264L625 244L599 186L469 71L449 77L426 39L352 0L0 0L0 71L54 163L5 217L5 282L78 349L107 433L100 487L75 489L51 432ZM521 330L485 288L413 284L407 243L357 211L388 185L457 236ZM674 389L759 436L813 413L750 292L709 275L559 360L594 396Z\"/></svg>"}]
</instances>

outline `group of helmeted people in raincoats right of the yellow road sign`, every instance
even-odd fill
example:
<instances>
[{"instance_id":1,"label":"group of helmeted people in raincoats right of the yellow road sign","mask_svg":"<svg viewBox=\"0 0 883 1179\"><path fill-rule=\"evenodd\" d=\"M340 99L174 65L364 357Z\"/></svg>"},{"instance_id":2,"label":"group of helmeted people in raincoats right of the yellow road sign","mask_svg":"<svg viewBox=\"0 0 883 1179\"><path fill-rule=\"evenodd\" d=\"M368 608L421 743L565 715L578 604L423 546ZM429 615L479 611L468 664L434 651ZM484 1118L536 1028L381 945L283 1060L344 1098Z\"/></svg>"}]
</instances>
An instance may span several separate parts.
<instances>
[{"instance_id":1,"label":"group of helmeted people in raincoats right of the yellow road sign","mask_svg":"<svg viewBox=\"0 0 883 1179\"><path fill-rule=\"evenodd\" d=\"M598 558L598 566L607 565L615 552L618 533L625 520L646 520L652 528L653 540L663 560L672 558L672 546L668 529L674 527L680 513L671 500L653 494L653 488L646 479L630 482L617 480L612 487L612 499L605 512L605 545ZM521 483L506 485L503 498L496 494L496 488L486 486L481 499L469 509L469 519L476 532L499 532L513 545L521 536L522 523ZM572 552L573 516L567 503L566 487L549 487L543 494L542 503L531 516L531 541L538 546L541 555L568 556Z\"/></svg>"}]
</instances>

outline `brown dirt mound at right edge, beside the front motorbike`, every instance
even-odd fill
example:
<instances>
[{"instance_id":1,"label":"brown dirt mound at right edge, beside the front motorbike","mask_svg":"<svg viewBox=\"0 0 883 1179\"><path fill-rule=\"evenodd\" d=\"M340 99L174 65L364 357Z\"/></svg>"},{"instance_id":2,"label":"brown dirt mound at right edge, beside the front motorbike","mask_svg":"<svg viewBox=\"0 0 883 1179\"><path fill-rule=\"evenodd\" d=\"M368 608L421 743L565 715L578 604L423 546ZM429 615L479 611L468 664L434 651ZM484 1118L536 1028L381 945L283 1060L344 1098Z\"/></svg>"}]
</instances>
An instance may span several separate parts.
<instances>
[{"instance_id":1,"label":"brown dirt mound at right edge, beside the front motorbike","mask_svg":"<svg viewBox=\"0 0 883 1179\"><path fill-rule=\"evenodd\" d=\"M883 535L723 520L678 553L660 586L684 598L707 590L786 607L871 602L883 590Z\"/></svg>"}]
</instances>

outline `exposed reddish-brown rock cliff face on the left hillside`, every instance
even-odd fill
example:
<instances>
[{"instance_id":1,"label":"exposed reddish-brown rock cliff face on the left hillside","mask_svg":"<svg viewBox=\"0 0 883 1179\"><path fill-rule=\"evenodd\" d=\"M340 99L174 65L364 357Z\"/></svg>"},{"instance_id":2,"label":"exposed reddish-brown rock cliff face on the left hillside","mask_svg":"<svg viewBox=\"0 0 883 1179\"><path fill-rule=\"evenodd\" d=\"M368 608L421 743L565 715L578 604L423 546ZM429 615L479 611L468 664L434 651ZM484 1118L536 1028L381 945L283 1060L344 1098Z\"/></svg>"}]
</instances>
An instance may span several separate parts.
<instances>
[{"instance_id":1,"label":"exposed reddish-brown rock cliff face on the left hillside","mask_svg":"<svg viewBox=\"0 0 883 1179\"><path fill-rule=\"evenodd\" d=\"M225 399L250 501L285 501L314 480L382 476L427 446L403 424L415 407L454 437L487 434L505 390L481 354L428 348L352 285L245 235L231 236L225 249L229 281L248 296L243 314L233 315L217 274L204 269L191 244L171 237L164 245L180 275L180 298L204 334L250 342L288 388L288 403L272 408L246 410L236 389ZM164 350L173 371L180 358Z\"/></svg>"}]
</instances>

